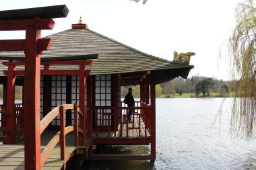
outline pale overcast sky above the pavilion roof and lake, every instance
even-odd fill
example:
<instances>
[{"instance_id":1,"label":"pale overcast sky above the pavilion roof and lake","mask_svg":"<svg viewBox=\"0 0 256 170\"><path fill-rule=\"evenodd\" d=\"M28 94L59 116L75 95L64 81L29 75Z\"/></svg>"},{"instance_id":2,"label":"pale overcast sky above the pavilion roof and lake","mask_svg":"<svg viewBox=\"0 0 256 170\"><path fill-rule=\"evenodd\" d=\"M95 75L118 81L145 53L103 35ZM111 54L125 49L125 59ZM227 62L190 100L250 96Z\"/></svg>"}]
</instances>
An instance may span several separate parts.
<instances>
[{"instance_id":1,"label":"pale overcast sky above the pavilion roof and lake","mask_svg":"<svg viewBox=\"0 0 256 170\"><path fill-rule=\"evenodd\" d=\"M0 0L0 10L65 4L66 18L55 19L54 34L83 22L104 36L133 48L172 60L173 52L195 52L192 75L227 79L226 42L235 26L234 11L243 0ZM0 39L24 38L24 32L0 32Z\"/></svg>"}]
</instances>

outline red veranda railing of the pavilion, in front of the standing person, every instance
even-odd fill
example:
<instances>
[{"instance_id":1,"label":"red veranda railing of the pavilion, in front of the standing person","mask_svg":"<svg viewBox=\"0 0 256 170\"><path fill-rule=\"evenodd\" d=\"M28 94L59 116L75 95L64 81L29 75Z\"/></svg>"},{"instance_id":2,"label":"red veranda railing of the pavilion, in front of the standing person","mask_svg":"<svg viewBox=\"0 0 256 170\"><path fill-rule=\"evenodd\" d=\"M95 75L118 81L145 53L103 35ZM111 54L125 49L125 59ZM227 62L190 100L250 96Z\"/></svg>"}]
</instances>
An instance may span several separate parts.
<instances>
[{"instance_id":1,"label":"red veranda railing of the pavilion, in front of the standing person","mask_svg":"<svg viewBox=\"0 0 256 170\"><path fill-rule=\"evenodd\" d=\"M131 116L132 123L128 123L129 110L133 112ZM94 107L95 136L108 138L129 137L129 130L138 130L137 136L149 136L148 132L151 132L150 110L150 105L140 106L139 101L135 102L135 107L125 107L123 103L122 107L119 108Z\"/></svg>"}]
</instances>

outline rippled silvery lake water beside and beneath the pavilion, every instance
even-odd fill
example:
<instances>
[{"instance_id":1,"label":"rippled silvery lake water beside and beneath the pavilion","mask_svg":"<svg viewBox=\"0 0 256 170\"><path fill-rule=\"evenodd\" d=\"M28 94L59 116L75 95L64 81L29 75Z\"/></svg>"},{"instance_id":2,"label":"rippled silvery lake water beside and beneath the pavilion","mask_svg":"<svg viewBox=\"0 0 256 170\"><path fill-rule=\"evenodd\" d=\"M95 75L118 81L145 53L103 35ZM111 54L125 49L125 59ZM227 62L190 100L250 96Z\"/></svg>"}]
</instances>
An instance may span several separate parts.
<instances>
[{"instance_id":1,"label":"rippled silvery lake water beside and beneath the pavilion","mask_svg":"<svg viewBox=\"0 0 256 170\"><path fill-rule=\"evenodd\" d=\"M228 136L231 99L222 107L221 126L213 127L222 98L156 99L156 162L87 161L82 169L256 169L256 144ZM119 147L147 153L147 146Z\"/></svg>"}]
</instances>

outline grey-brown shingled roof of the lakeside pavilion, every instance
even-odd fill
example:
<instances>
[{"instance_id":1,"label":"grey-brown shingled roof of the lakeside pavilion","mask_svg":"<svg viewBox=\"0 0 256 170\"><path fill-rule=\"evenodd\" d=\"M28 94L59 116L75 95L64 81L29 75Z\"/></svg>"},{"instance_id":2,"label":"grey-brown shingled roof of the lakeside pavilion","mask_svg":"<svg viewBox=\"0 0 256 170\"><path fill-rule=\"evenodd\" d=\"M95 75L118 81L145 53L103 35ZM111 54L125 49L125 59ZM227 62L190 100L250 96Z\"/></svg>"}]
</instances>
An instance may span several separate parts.
<instances>
[{"instance_id":1,"label":"grey-brown shingled roof of the lakeside pavilion","mask_svg":"<svg viewBox=\"0 0 256 170\"><path fill-rule=\"evenodd\" d=\"M193 65L174 64L89 29L65 30L46 38L52 38L53 42L50 50L45 51L42 57L99 54L93 65L87 67L92 70L92 75L153 71L162 77L158 80L160 83L179 76L187 78L190 69L193 69ZM0 56L24 56L24 52L0 52ZM77 69L77 66L72 65L64 67ZM63 69L63 66L53 66L50 69L53 68ZM6 69L7 67L0 64L0 75Z\"/></svg>"}]
</instances>

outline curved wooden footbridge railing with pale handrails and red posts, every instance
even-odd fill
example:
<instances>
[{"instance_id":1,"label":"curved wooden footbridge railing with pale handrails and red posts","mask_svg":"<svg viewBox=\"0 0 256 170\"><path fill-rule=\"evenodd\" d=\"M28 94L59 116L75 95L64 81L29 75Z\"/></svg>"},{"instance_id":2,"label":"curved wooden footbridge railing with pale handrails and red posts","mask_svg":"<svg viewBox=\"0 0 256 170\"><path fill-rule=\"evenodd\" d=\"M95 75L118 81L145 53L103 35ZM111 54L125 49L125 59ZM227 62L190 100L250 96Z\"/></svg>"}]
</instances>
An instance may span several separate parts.
<instances>
[{"instance_id":1,"label":"curved wooden footbridge railing with pale handrails and red posts","mask_svg":"<svg viewBox=\"0 0 256 170\"><path fill-rule=\"evenodd\" d=\"M73 126L65 127L65 110L74 110L74 125ZM61 145L61 161L64 161L64 163L67 162L69 157L66 157L66 155L65 155L65 147L66 147L65 136L69 132L74 131L74 146L75 146L74 149L77 149L77 146L84 145L84 143L85 143L85 141L79 142L79 134L83 135L83 137L84 137L85 130L78 126L78 120L79 120L79 118L84 117L84 113L82 112L82 110L79 109L77 104L64 104L64 105L60 105L59 107L51 110L51 112L49 112L49 114L44 116L44 118L40 122L40 133L42 134L42 132L44 132L46 127L49 124L51 124L51 122L58 115L60 115L60 121L61 121L60 129L61 130L60 130L60 132L55 134L55 136L53 136L53 138L50 140L50 142L46 145L46 147L42 151L41 167L42 167L42 165L44 165L44 162L49 157L49 155L51 154L51 152L53 151L53 149L55 148L55 146L57 145L57 143L59 141L60 141L60 145Z\"/></svg>"}]
</instances>

